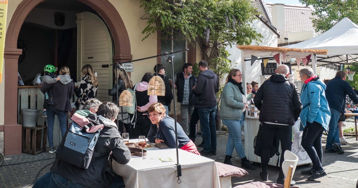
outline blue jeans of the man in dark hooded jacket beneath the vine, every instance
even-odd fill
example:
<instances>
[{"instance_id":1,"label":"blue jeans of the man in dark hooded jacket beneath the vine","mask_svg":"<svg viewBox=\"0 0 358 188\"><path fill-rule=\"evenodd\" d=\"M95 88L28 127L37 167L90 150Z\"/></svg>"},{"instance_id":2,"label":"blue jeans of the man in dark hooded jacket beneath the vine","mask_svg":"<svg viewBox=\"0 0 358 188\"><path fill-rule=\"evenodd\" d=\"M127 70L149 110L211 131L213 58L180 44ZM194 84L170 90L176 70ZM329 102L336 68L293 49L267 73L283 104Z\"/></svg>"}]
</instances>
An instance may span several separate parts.
<instances>
[{"instance_id":1,"label":"blue jeans of the man in dark hooded jacket beneath the vine","mask_svg":"<svg viewBox=\"0 0 358 188\"><path fill-rule=\"evenodd\" d=\"M216 105L209 108L198 108L200 129L205 143L203 150L207 153L216 151L215 110Z\"/></svg>"}]
</instances>

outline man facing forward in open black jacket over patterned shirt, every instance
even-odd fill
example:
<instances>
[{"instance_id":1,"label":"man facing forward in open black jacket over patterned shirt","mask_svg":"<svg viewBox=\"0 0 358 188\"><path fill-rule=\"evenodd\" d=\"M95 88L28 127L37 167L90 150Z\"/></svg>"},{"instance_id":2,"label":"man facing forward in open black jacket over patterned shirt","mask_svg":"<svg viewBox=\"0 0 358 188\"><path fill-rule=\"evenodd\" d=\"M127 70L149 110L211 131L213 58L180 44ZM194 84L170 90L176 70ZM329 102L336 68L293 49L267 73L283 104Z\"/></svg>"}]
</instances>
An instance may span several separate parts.
<instances>
[{"instance_id":1,"label":"man facing forward in open black jacket over patterned shirt","mask_svg":"<svg viewBox=\"0 0 358 188\"><path fill-rule=\"evenodd\" d=\"M194 105L190 104L190 98L193 95L193 87L196 85L196 77L192 74L193 65L190 63L185 63L183 65L183 72L176 74L176 96L178 97L178 102L180 102L180 115L182 115L182 126L185 134L189 135L188 130L188 117L192 116ZM191 133L192 134L192 133Z\"/></svg>"}]
</instances>

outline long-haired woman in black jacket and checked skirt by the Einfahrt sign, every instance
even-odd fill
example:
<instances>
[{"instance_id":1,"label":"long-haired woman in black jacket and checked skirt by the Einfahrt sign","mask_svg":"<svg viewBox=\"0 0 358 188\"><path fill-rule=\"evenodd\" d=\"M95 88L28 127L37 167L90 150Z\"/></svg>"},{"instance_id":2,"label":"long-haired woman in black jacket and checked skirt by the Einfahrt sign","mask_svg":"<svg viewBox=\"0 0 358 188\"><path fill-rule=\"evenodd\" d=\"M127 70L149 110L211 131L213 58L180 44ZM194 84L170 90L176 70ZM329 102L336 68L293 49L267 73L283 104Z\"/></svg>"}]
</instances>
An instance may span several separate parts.
<instances>
[{"instance_id":1,"label":"long-haired woman in black jacket and checked skirt by the Einfahrt sign","mask_svg":"<svg viewBox=\"0 0 358 188\"><path fill-rule=\"evenodd\" d=\"M121 93L128 89L128 88L132 88L132 81L130 79L129 74L123 70L120 71L118 68L113 69L113 73L117 72L117 80L113 86L112 89L108 90L108 95L110 96L114 96L115 100L114 102L118 105L118 97L121 95ZM118 92L118 96L117 96L117 92ZM126 128L126 131L129 133L129 136L132 138L132 129L131 129L131 125L130 125L130 118L129 118L129 114L126 111L126 107L122 107L122 106L118 106L119 109L119 113L118 113L118 131L120 132L124 132L123 126Z\"/></svg>"}]
</instances>

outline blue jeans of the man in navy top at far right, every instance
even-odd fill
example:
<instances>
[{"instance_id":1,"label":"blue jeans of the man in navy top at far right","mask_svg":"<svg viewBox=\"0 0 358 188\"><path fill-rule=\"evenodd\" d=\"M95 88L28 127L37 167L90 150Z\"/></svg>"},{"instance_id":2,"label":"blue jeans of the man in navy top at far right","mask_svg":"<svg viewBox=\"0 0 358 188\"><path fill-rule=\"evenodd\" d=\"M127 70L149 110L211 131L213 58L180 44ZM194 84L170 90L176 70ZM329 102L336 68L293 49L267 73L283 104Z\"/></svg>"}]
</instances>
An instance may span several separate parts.
<instances>
[{"instance_id":1,"label":"blue jeans of the man in navy top at far right","mask_svg":"<svg viewBox=\"0 0 358 188\"><path fill-rule=\"evenodd\" d=\"M329 108L331 111L331 119L329 120L328 124L328 135L327 135L327 143L326 148L332 149L333 143L340 144L339 141L339 126L338 126L338 120L340 113L338 110Z\"/></svg>"}]
</instances>

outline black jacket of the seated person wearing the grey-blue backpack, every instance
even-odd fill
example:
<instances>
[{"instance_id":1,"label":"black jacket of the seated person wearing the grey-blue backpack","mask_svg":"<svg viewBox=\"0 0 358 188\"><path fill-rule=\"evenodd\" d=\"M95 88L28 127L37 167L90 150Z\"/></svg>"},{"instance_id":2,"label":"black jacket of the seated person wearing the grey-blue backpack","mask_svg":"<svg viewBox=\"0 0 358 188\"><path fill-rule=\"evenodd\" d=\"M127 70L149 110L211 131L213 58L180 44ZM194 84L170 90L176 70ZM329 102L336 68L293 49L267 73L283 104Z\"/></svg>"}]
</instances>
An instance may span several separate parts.
<instances>
[{"instance_id":1,"label":"black jacket of the seated person wearing the grey-blue backpack","mask_svg":"<svg viewBox=\"0 0 358 188\"><path fill-rule=\"evenodd\" d=\"M129 162L131 153L124 144L116 124L102 116L98 117L103 121L105 127L100 132L89 167L87 169L78 168L56 158L50 169L51 172L88 187L107 187L109 180L105 175L105 170L110 152L112 151L113 160L118 163L127 164ZM59 148L66 141L67 132L58 146Z\"/></svg>"}]
</instances>

